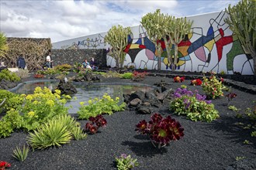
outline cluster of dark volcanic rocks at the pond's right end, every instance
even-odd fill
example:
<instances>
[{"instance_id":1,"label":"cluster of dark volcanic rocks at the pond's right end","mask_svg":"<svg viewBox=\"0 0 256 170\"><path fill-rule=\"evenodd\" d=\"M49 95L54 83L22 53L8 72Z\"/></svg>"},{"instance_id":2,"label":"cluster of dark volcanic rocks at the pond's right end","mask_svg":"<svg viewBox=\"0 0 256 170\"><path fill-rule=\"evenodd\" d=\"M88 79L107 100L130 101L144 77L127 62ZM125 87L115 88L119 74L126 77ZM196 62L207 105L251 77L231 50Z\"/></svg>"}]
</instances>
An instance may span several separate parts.
<instances>
[{"instance_id":1,"label":"cluster of dark volcanic rocks at the pond's right end","mask_svg":"<svg viewBox=\"0 0 256 170\"><path fill-rule=\"evenodd\" d=\"M173 90L164 87L168 83L157 83L161 90L142 91L137 90L131 94L124 94L124 102L129 110L137 110L137 114L152 114L160 107L170 103L173 98Z\"/></svg>"}]
</instances>

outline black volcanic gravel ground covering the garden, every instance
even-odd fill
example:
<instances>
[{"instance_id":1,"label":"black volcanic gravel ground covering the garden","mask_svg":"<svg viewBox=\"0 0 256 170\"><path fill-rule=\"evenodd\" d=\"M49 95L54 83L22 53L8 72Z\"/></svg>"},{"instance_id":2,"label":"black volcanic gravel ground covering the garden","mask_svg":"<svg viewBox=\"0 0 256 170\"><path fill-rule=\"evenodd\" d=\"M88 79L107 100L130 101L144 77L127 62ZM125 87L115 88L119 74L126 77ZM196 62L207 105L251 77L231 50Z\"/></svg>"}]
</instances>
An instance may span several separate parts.
<instances>
[{"instance_id":1,"label":"black volcanic gravel ground covering the garden","mask_svg":"<svg viewBox=\"0 0 256 170\"><path fill-rule=\"evenodd\" d=\"M189 80L184 83L173 83L173 79L161 76L147 76L139 83L154 85L161 80L171 83L169 88L176 89L182 84L189 90L199 90L202 87L190 86ZM102 82L127 82L119 78L103 79ZM232 89L237 97L231 105L240 108L243 114L247 107L253 106L255 94ZM104 115L108 124L99 133L88 135L81 141L71 141L61 148L49 148L44 151L29 151L24 162L12 158L16 146L26 144L27 134L15 132L9 138L0 139L0 161L10 162L11 169L116 169L115 157L123 153L137 158L139 166L135 169L256 169L256 138L250 136L250 131L240 128L237 122L247 124L247 119L237 119L236 113L228 110L227 99L221 97L213 100L220 112L220 118L211 123L190 121L183 116L172 114L168 106L159 108L159 113L171 115L185 129L185 136L161 149L154 148L147 136L137 134L135 124L150 115L136 114L125 110L112 115ZM87 121L79 121L84 126ZM249 144L244 145L244 140ZM236 161L236 158L244 158Z\"/></svg>"}]
</instances>

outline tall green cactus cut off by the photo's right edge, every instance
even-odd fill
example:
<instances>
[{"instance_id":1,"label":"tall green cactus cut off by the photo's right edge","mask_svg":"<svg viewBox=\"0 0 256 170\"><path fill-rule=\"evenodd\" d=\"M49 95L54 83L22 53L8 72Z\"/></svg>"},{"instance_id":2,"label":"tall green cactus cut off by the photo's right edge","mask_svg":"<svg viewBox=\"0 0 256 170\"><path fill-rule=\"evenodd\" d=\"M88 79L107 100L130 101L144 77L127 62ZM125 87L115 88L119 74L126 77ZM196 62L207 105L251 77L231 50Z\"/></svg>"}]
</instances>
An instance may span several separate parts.
<instances>
[{"instance_id":1,"label":"tall green cactus cut off by the photo's right edge","mask_svg":"<svg viewBox=\"0 0 256 170\"><path fill-rule=\"evenodd\" d=\"M229 17L224 21L238 36L247 59L254 59L256 75L256 0L241 0L237 5L226 8Z\"/></svg>"}]
</instances>

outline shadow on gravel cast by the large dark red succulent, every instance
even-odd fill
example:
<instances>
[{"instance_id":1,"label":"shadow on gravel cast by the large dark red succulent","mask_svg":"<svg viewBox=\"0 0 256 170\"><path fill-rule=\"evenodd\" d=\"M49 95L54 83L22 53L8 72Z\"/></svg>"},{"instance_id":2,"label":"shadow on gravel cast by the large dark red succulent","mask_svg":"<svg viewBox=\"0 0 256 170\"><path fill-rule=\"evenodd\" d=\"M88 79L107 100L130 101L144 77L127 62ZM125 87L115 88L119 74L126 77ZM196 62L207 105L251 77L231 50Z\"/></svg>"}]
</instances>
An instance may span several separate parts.
<instances>
[{"instance_id":1,"label":"shadow on gravel cast by the large dark red succulent","mask_svg":"<svg viewBox=\"0 0 256 170\"><path fill-rule=\"evenodd\" d=\"M166 148L154 148L150 141L135 142L135 141L123 141L122 145L129 146L130 150L137 156L154 157L154 155L163 155L167 153Z\"/></svg>"}]
</instances>

